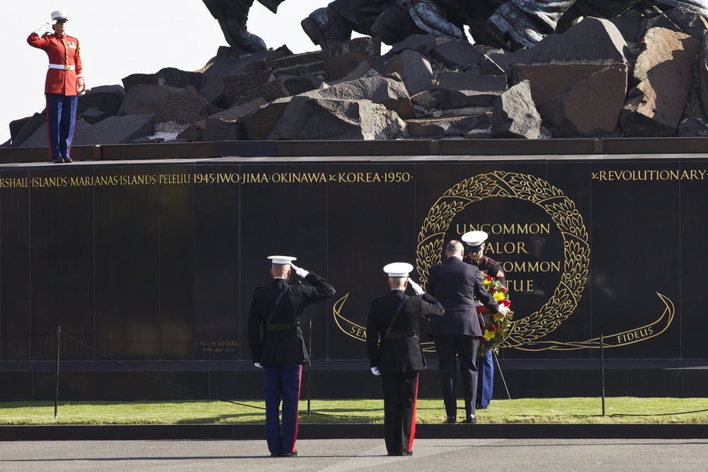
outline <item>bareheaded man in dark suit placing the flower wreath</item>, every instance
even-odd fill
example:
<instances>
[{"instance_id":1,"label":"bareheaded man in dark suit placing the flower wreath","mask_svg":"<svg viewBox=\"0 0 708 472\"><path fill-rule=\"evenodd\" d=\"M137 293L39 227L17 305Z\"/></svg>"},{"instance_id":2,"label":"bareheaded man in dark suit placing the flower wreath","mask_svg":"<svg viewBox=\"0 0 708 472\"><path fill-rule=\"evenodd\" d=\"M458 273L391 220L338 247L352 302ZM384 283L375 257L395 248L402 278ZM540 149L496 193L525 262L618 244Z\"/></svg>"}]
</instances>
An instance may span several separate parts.
<instances>
[{"instance_id":1,"label":"bareheaded man in dark suit placing the flower wreath","mask_svg":"<svg viewBox=\"0 0 708 472\"><path fill-rule=\"evenodd\" d=\"M457 417L457 369L455 357L459 358L464 389L464 410L468 423L476 422L475 400L477 393L476 355L481 329L477 318L474 298L481 301L491 313L506 315L508 308L499 306L484 288L479 269L462 262L464 246L453 240L445 248L445 262L430 268L428 292L445 307L445 316L433 318L428 327L428 336L435 342L438 352L438 369L442 400L445 402L447 422L454 423Z\"/></svg>"}]
</instances>

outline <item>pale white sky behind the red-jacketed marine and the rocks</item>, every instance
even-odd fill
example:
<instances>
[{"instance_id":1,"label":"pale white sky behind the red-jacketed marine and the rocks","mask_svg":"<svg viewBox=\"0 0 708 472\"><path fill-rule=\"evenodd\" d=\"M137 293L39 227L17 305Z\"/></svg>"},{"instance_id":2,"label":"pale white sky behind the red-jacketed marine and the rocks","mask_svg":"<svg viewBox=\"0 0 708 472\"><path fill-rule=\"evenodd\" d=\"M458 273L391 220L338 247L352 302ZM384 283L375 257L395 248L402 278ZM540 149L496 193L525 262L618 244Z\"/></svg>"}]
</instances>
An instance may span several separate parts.
<instances>
[{"instance_id":1,"label":"pale white sky behind the red-jacketed marine and the rocks","mask_svg":"<svg viewBox=\"0 0 708 472\"><path fill-rule=\"evenodd\" d=\"M268 47L297 53L319 50L300 27L310 12L330 0L285 0L274 15L256 1L248 28ZM3 0L6 47L0 74L0 144L10 139L9 123L45 108L47 54L27 37L67 11L67 34L79 40L84 79L89 87L122 85L130 74L153 74L164 67L194 71L227 45L217 21L201 0ZM356 35L354 35L356 36Z\"/></svg>"}]
</instances>

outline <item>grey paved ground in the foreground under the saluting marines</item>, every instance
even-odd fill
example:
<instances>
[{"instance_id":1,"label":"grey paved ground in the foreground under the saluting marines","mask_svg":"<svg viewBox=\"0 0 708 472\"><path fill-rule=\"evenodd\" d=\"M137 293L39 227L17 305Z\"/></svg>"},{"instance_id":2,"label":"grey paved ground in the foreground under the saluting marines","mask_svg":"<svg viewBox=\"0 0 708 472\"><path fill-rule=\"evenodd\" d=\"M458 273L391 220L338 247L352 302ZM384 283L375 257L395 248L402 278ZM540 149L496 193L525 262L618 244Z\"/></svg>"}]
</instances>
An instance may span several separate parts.
<instances>
[{"instance_id":1,"label":"grey paved ground in the foreground under the saluting marines","mask_svg":"<svg viewBox=\"0 0 708 472\"><path fill-rule=\"evenodd\" d=\"M310 439L299 456L265 441L0 442L0 471L705 471L708 439L418 439L388 457L379 439Z\"/></svg>"}]
</instances>

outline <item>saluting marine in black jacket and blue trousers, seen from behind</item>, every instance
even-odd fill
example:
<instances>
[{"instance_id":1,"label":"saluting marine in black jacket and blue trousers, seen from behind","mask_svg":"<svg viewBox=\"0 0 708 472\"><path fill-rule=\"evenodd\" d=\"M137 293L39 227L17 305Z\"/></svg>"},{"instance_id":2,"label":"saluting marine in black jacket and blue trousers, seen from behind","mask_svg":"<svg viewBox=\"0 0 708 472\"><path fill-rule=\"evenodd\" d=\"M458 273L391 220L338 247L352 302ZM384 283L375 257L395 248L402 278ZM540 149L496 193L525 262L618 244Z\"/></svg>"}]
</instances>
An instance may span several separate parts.
<instances>
[{"instance_id":1,"label":"saluting marine in black jacket and blue trousers, seen from behind","mask_svg":"<svg viewBox=\"0 0 708 472\"><path fill-rule=\"evenodd\" d=\"M271 255L273 282L253 292L249 311L249 344L256 367L265 374L265 436L271 456L297 456L298 401L302 364L309 362L299 319L307 306L334 294L334 287L314 272L292 263L295 258ZM288 284L290 267L312 284ZM280 399L282 398L282 434Z\"/></svg>"}]
</instances>

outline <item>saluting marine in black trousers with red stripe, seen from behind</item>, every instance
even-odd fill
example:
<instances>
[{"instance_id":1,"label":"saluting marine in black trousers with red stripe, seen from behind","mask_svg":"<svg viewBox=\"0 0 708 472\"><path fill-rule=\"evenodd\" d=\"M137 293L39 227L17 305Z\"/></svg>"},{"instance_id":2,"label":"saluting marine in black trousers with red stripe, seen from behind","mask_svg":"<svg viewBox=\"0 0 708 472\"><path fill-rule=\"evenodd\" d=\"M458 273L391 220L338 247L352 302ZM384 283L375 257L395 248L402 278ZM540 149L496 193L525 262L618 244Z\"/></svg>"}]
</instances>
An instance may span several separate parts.
<instances>
[{"instance_id":1,"label":"saluting marine in black trousers with red stripe, seen from behind","mask_svg":"<svg viewBox=\"0 0 708 472\"><path fill-rule=\"evenodd\" d=\"M418 328L423 316L441 316L442 304L409 280L413 266L392 263L384 267L391 292L371 302L366 322L366 347L371 372L381 375L384 387L384 440L389 456L413 454L416 435L418 371L426 368ZM404 293L410 282L415 297ZM381 339L379 343L379 338Z\"/></svg>"}]
</instances>

